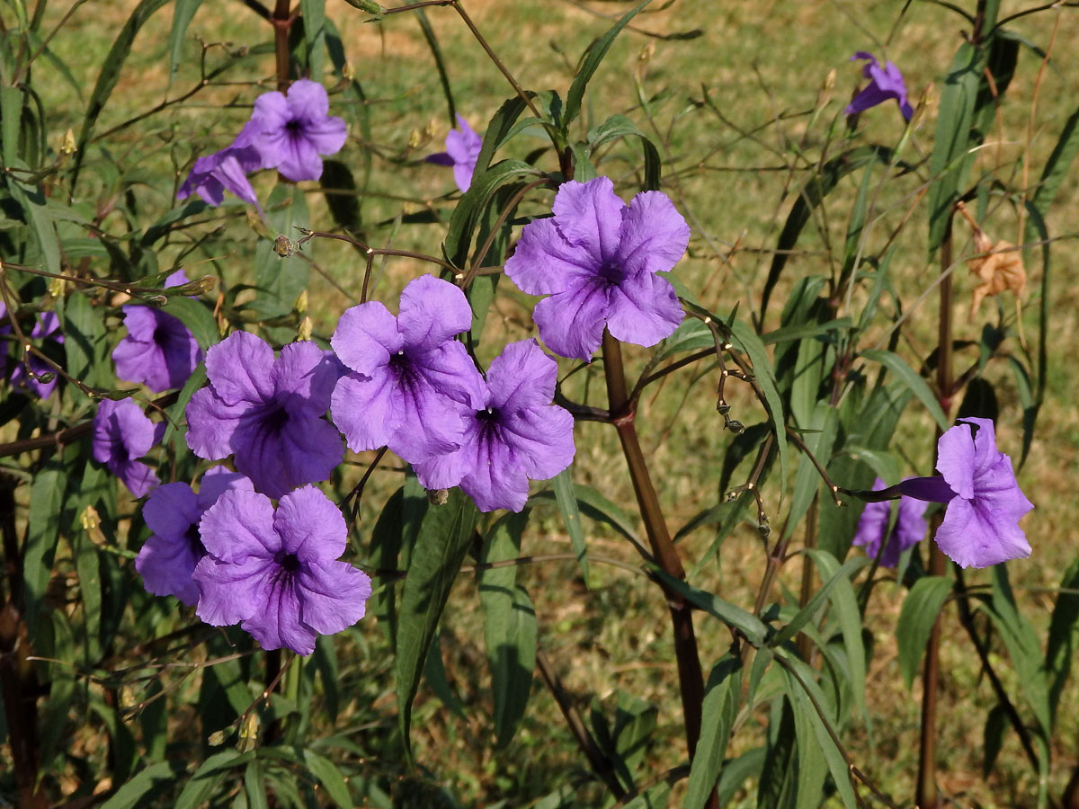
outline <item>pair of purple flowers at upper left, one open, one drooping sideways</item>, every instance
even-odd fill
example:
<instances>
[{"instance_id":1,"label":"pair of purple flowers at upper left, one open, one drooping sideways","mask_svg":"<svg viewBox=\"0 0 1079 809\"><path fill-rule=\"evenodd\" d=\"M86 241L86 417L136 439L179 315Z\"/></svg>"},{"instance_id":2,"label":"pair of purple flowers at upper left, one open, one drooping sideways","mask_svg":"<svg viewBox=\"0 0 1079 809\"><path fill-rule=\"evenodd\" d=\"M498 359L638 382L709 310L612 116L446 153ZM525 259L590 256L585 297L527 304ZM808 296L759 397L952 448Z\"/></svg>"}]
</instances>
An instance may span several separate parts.
<instances>
[{"instance_id":1,"label":"pair of purple flowers at upper left, one open, one drooping sideways","mask_svg":"<svg viewBox=\"0 0 1079 809\"><path fill-rule=\"evenodd\" d=\"M186 200L196 193L210 205L220 205L224 192L231 191L257 206L248 174L276 168L289 180L317 180L323 174L319 155L340 151L345 136L344 121L329 114L326 88L300 79L287 95L275 91L256 98L251 118L236 139L196 160L176 196Z\"/></svg>"}]
</instances>

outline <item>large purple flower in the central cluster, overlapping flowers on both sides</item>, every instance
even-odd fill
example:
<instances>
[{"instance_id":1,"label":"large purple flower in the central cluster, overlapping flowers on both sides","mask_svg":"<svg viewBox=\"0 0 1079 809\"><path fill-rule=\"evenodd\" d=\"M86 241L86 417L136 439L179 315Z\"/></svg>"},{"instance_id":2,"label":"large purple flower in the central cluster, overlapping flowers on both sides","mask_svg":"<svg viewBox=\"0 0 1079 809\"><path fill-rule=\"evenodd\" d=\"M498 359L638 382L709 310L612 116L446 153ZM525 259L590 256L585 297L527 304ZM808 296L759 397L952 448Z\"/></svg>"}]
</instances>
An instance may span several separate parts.
<instances>
[{"instance_id":1,"label":"large purple flower in the central cluster, overlapping flowers on both sides","mask_svg":"<svg viewBox=\"0 0 1079 809\"><path fill-rule=\"evenodd\" d=\"M472 326L464 292L422 275L395 318L378 301L347 310L330 345L352 372L333 390L333 423L349 449L386 445L408 463L461 447L460 404L484 407L482 378L454 334Z\"/></svg>"}]
</instances>

